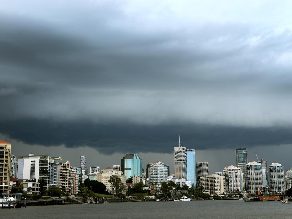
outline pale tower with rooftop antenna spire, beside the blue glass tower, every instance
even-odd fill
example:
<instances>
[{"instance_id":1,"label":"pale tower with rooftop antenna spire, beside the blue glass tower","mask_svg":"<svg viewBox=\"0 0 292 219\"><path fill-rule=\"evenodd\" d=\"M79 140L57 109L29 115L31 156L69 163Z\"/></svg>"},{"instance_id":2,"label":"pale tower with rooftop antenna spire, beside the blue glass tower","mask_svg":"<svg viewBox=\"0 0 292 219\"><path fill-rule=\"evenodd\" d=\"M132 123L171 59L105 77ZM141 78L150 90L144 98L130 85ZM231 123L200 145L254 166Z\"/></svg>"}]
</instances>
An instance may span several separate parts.
<instances>
[{"instance_id":1,"label":"pale tower with rooftop antenna spire, beside the blue glass tower","mask_svg":"<svg viewBox=\"0 0 292 219\"><path fill-rule=\"evenodd\" d=\"M181 146L178 137L178 147L174 147L174 173L178 179L187 180L187 148Z\"/></svg>"}]
</instances>

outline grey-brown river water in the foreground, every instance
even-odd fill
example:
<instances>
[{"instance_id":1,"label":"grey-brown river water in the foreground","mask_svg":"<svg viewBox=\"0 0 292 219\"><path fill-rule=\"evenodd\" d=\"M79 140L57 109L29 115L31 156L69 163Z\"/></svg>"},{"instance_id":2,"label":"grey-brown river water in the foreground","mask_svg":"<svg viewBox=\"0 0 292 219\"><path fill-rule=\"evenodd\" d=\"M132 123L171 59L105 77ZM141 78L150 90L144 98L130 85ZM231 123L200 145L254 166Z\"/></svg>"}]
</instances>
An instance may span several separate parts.
<instances>
[{"instance_id":1,"label":"grey-brown river water in the foreground","mask_svg":"<svg viewBox=\"0 0 292 219\"><path fill-rule=\"evenodd\" d=\"M125 202L27 206L0 209L0 218L17 219L182 219L182 218L292 218L292 204L279 201L244 202L243 200Z\"/></svg>"}]
</instances>

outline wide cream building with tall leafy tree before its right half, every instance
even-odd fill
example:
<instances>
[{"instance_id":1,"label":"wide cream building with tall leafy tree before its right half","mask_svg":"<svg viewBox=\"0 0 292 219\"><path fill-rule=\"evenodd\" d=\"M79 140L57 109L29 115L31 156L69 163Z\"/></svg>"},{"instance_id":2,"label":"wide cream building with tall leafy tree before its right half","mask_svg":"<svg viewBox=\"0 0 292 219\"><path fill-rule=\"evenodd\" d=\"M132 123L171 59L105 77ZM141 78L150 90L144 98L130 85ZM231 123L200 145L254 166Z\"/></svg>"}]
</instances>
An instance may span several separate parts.
<instances>
[{"instance_id":1,"label":"wide cream building with tall leafy tree before its right half","mask_svg":"<svg viewBox=\"0 0 292 219\"><path fill-rule=\"evenodd\" d=\"M99 171L98 176L97 176L97 181L105 184L105 186L107 187L107 191L112 192L113 188L111 184L109 183L109 179L112 175L119 176L122 183L124 183L124 185L126 186L126 176L123 174L123 172L118 171L118 170L113 170L110 167L108 167L105 170Z\"/></svg>"}]
</instances>

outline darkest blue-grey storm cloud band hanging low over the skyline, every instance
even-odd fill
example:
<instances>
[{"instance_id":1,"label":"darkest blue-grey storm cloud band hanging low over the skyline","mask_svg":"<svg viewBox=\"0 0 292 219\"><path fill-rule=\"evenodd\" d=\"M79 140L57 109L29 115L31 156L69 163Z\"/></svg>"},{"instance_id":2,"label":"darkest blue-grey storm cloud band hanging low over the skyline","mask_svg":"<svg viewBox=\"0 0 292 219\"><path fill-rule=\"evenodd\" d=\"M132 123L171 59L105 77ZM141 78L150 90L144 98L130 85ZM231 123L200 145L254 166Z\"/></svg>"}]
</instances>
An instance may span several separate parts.
<instances>
[{"instance_id":1,"label":"darkest blue-grey storm cloud band hanging low over the skyline","mask_svg":"<svg viewBox=\"0 0 292 219\"><path fill-rule=\"evenodd\" d=\"M290 128L242 128L205 124L137 125L128 122L98 124L91 121L58 122L51 120L21 119L17 126L1 122L0 132L12 139L32 145L65 145L68 148L89 146L112 154L114 152L172 153L181 142L188 148L255 147L289 144Z\"/></svg>"}]
</instances>

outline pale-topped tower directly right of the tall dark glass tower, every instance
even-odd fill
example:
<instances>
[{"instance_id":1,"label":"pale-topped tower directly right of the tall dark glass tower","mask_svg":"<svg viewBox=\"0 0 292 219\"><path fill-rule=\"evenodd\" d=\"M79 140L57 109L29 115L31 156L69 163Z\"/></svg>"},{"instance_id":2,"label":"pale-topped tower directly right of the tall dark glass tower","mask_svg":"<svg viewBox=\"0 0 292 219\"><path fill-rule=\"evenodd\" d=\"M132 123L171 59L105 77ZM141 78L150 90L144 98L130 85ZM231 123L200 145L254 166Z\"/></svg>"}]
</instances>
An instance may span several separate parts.
<instances>
[{"instance_id":1,"label":"pale-topped tower directly right of the tall dark glass tower","mask_svg":"<svg viewBox=\"0 0 292 219\"><path fill-rule=\"evenodd\" d=\"M246 165L246 180L247 180L247 191L252 194L257 194L258 188L263 190L263 172L262 164L251 161Z\"/></svg>"}]
</instances>

